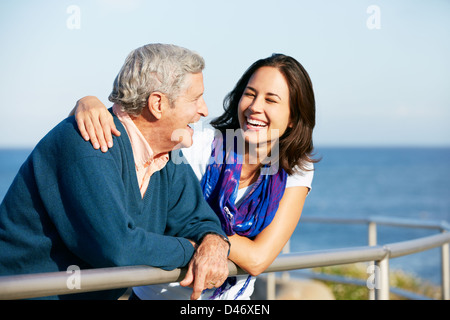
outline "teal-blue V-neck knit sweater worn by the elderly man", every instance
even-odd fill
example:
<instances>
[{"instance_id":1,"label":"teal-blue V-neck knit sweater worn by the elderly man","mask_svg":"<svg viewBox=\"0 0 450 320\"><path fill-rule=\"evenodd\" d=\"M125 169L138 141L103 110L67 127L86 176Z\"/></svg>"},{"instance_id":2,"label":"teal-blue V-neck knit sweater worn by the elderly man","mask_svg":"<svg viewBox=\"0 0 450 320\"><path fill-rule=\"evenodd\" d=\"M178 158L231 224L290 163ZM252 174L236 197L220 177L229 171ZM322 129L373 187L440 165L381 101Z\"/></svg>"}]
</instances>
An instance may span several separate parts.
<instances>
[{"instance_id":1,"label":"teal-blue V-neck knit sweater worn by the elderly man","mask_svg":"<svg viewBox=\"0 0 450 320\"><path fill-rule=\"evenodd\" d=\"M224 234L191 167L169 161L142 198L121 131L107 153L62 121L22 165L0 206L0 276L150 265L185 266L206 232ZM81 281L82 281L81 271ZM82 282L81 282L82 285ZM123 290L51 298L118 298Z\"/></svg>"}]
</instances>

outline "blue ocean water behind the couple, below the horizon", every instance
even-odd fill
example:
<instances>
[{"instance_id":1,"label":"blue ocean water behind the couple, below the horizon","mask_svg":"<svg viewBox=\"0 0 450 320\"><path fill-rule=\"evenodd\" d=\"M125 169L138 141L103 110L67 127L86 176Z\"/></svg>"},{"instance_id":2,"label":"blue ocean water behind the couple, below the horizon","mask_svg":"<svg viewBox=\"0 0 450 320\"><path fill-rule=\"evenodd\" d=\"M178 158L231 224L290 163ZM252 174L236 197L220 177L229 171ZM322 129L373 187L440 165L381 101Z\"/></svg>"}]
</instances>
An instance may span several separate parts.
<instances>
[{"instance_id":1,"label":"blue ocean water behind the couple, below the horizon","mask_svg":"<svg viewBox=\"0 0 450 320\"><path fill-rule=\"evenodd\" d=\"M0 199L31 150L0 149ZM317 148L322 160L302 217L387 216L450 222L450 148ZM414 239L436 231L378 227L378 243ZM367 245L367 226L300 220L291 251ZM402 269L439 283L440 249L391 259Z\"/></svg>"}]
</instances>

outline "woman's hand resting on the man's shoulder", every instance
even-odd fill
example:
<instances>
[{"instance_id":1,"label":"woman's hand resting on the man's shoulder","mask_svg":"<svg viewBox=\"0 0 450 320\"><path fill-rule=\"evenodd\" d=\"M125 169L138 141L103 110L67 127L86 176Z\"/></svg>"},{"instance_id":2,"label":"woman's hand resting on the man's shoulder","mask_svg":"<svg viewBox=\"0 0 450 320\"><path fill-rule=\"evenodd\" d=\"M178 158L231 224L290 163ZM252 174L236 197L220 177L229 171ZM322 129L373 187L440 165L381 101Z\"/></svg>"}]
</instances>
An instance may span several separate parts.
<instances>
[{"instance_id":1,"label":"woman's hand resting on the man's shoulder","mask_svg":"<svg viewBox=\"0 0 450 320\"><path fill-rule=\"evenodd\" d=\"M94 149L103 152L112 148L112 135L120 136L111 113L97 97L87 96L77 101L69 116L75 115L81 136L91 140Z\"/></svg>"}]
</instances>

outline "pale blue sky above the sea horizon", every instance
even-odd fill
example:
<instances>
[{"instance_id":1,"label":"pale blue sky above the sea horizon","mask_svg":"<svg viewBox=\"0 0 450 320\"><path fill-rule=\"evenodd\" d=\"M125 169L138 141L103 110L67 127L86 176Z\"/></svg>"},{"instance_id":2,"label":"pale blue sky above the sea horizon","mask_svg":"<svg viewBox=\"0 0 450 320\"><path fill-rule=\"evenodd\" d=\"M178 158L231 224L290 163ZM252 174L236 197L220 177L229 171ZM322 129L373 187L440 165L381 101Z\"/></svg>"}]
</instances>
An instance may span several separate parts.
<instances>
[{"instance_id":1,"label":"pale blue sky above the sea horizon","mask_svg":"<svg viewBox=\"0 0 450 320\"><path fill-rule=\"evenodd\" d=\"M212 117L279 52L313 81L316 146L450 146L446 0L6 0L0 39L0 147L33 147L85 95L109 106L126 55L151 42L205 58Z\"/></svg>"}]
</instances>

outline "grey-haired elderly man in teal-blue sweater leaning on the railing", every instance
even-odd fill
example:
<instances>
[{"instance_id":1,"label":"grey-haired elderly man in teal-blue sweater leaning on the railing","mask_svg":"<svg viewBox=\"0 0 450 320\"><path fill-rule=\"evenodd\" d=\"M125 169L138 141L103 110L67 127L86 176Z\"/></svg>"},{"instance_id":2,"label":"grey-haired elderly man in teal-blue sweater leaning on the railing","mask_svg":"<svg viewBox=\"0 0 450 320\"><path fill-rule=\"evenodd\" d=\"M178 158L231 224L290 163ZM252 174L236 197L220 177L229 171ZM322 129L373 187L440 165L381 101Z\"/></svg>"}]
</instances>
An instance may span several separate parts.
<instances>
[{"instance_id":1,"label":"grey-haired elderly man in teal-blue sweater leaning on the railing","mask_svg":"<svg viewBox=\"0 0 450 320\"><path fill-rule=\"evenodd\" d=\"M192 144L189 124L207 115L203 68L203 59L184 48L138 48L110 95L121 133L110 152L84 141L73 117L39 142L0 206L0 275L189 263L182 283L193 286L191 298L223 283L228 239L190 166L170 160L174 147Z\"/></svg>"}]
</instances>

